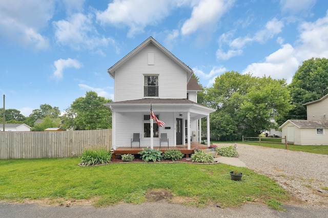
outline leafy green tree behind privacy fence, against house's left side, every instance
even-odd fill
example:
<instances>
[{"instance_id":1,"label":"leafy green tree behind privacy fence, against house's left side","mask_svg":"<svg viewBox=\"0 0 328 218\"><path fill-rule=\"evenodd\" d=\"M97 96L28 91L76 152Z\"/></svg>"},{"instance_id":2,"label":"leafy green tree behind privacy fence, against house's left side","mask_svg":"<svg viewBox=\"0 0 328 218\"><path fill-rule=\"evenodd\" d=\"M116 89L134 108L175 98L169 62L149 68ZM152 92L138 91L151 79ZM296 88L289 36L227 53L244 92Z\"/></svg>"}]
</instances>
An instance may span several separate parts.
<instances>
[{"instance_id":1,"label":"leafy green tree behind privacy fence, against house's left side","mask_svg":"<svg viewBox=\"0 0 328 218\"><path fill-rule=\"evenodd\" d=\"M105 129L112 126L112 112L104 103L111 99L100 97L90 91L85 97L79 97L67 108L63 128L75 130Z\"/></svg>"}]
</instances>

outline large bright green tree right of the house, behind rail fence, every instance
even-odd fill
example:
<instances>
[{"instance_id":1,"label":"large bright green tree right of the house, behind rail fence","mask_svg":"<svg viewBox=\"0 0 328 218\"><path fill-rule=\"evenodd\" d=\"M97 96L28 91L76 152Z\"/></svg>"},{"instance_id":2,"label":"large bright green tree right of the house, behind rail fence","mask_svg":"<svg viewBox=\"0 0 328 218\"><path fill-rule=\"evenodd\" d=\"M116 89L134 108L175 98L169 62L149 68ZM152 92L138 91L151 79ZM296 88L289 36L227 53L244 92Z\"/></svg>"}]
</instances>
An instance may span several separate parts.
<instances>
[{"instance_id":1,"label":"large bright green tree right of the house, behind rail fence","mask_svg":"<svg viewBox=\"0 0 328 218\"><path fill-rule=\"evenodd\" d=\"M288 113L290 103L285 80L226 72L207 90L207 105L216 109L211 114L211 136L228 141L256 136L276 127L272 120Z\"/></svg>"}]
</instances>

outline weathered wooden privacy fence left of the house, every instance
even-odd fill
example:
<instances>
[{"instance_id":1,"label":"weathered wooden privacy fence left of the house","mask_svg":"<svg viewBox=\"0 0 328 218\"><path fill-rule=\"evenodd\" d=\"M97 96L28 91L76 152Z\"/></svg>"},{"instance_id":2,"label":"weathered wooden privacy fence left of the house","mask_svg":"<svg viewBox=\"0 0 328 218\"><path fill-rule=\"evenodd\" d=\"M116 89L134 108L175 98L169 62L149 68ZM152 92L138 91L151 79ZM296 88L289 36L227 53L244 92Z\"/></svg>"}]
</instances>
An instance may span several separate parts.
<instances>
[{"instance_id":1,"label":"weathered wooden privacy fence left of the house","mask_svg":"<svg viewBox=\"0 0 328 218\"><path fill-rule=\"evenodd\" d=\"M0 132L0 159L67 158L89 146L110 150L111 129L61 132Z\"/></svg>"}]
</instances>

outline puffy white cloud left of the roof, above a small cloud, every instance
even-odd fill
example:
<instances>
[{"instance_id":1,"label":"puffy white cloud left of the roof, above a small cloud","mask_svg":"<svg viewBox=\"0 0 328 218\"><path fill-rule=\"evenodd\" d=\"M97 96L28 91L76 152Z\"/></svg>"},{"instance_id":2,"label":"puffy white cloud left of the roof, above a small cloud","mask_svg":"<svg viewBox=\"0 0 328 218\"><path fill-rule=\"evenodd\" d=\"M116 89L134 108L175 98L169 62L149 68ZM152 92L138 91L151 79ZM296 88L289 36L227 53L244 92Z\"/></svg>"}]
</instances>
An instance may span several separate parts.
<instances>
[{"instance_id":1,"label":"puffy white cloud left of the roof, above a small cloud","mask_svg":"<svg viewBox=\"0 0 328 218\"><path fill-rule=\"evenodd\" d=\"M81 13L73 14L68 20L59 20L53 23L55 37L61 45L70 46L72 49L94 50L100 47L115 45L114 39L100 36L93 27L92 16ZM98 51L103 54L103 52Z\"/></svg>"}]
</instances>

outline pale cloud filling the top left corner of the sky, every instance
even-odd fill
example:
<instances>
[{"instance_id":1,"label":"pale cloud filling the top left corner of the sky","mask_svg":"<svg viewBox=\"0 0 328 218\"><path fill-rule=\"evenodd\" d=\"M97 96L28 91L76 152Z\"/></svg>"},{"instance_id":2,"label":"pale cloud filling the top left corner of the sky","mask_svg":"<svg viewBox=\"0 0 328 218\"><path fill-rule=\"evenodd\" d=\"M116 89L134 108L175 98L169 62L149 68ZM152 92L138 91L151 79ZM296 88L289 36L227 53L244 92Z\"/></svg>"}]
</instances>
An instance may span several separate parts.
<instances>
[{"instance_id":1,"label":"pale cloud filling the top left corner of the sky","mask_svg":"<svg viewBox=\"0 0 328 218\"><path fill-rule=\"evenodd\" d=\"M54 13L54 1L0 1L0 35L34 50L47 49L48 39L38 31Z\"/></svg>"}]
</instances>

